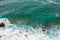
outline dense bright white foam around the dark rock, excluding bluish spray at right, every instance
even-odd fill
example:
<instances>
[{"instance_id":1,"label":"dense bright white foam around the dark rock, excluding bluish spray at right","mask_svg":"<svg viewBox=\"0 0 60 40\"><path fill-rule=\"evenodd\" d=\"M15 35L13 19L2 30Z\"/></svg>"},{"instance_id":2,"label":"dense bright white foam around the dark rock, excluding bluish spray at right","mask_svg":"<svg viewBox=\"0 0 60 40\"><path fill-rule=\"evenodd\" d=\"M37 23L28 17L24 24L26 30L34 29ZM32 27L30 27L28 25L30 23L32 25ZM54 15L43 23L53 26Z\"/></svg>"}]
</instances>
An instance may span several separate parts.
<instances>
[{"instance_id":1,"label":"dense bright white foam around the dark rock, excluding bluish spray at right","mask_svg":"<svg viewBox=\"0 0 60 40\"><path fill-rule=\"evenodd\" d=\"M16 25L13 25L9 22L7 18L0 19L0 22L4 22L7 26L5 30L0 30L0 40L59 40L60 36L58 38L49 38L48 35L45 35L44 32L41 31L41 28L33 29L31 26L30 29L26 30L25 27L27 25L22 25L20 28L18 28ZM53 31L53 30L51 30ZM60 35L60 32L57 31L57 33Z\"/></svg>"}]
</instances>

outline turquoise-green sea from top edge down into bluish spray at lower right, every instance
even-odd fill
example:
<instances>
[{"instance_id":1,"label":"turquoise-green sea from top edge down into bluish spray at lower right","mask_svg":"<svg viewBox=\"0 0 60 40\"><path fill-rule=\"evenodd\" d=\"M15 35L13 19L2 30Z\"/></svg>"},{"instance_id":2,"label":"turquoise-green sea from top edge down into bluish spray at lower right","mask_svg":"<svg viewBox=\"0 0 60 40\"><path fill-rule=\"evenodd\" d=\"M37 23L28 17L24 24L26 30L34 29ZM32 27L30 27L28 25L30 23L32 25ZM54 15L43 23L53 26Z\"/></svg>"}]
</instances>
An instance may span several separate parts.
<instances>
[{"instance_id":1,"label":"turquoise-green sea from top edge down into bluish spray at lower right","mask_svg":"<svg viewBox=\"0 0 60 40\"><path fill-rule=\"evenodd\" d=\"M44 32L46 35L55 37L56 35L59 35L60 30L60 1L1 0L0 18L7 18L11 24L17 25L16 27L22 27L20 28L22 30L24 28L26 28L25 30L30 30L31 27L32 29L39 29L42 25L42 28L45 27L47 30L47 32ZM59 38L56 39L59 40Z\"/></svg>"}]
</instances>

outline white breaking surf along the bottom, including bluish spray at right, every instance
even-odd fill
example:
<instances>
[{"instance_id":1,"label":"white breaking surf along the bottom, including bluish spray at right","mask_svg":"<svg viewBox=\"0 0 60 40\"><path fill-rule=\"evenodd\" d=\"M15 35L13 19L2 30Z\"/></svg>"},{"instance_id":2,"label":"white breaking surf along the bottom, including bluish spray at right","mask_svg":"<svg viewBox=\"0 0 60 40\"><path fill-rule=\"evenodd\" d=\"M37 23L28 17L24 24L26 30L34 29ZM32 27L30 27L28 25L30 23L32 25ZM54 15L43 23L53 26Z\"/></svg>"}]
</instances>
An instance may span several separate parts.
<instances>
[{"instance_id":1,"label":"white breaking surf along the bottom, including bluish spray at right","mask_svg":"<svg viewBox=\"0 0 60 40\"><path fill-rule=\"evenodd\" d=\"M7 18L1 18L0 23L5 24L5 28L0 28L0 40L59 40L60 32L58 26L50 30L42 31L42 28L34 29L29 25L20 25L17 27L11 24ZM58 30L57 30L58 29ZM48 34L48 35L47 35Z\"/></svg>"}]
</instances>

